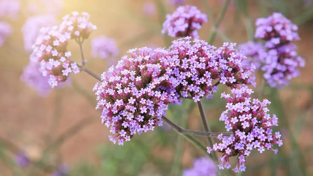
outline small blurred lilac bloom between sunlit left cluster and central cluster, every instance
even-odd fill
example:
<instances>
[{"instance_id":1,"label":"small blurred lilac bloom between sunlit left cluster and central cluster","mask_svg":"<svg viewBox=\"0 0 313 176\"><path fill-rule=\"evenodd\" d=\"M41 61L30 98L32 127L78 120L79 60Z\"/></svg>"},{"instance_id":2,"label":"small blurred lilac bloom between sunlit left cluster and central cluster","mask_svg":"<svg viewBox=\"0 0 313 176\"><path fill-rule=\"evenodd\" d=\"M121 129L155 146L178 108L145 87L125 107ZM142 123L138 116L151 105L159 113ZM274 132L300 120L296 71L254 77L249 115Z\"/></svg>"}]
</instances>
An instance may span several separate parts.
<instances>
[{"instance_id":1,"label":"small blurred lilac bloom between sunlit left cluster and central cluster","mask_svg":"<svg viewBox=\"0 0 313 176\"><path fill-rule=\"evenodd\" d=\"M119 54L115 39L107 38L104 35L91 40L91 57L101 59L113 59Z\"/></svg>"}]
</instances>

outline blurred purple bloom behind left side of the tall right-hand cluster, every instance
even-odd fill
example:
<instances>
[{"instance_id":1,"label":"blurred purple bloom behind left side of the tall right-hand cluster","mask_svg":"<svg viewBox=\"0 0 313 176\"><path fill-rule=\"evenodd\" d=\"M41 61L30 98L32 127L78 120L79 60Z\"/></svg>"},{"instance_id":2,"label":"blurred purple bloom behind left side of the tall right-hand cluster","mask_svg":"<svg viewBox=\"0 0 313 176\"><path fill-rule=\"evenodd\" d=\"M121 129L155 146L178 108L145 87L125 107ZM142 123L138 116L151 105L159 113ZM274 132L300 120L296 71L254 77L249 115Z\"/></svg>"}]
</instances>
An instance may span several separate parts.
<instances>
[{"instance_id":1,"label":"blurred purple bloom behind left side of the tall right-hand cluster","mask_svg":"<svg viewBox=\"0 0 313 176\"><path fill-rule=\"evenodd\" d=\"M259 69L267 56L262 42L248 41L247 43L239 44L238 49L248 57L242 62L246 67L250 67L251 63L253 63L256 69Z\"/></svg>"}]
</instances>

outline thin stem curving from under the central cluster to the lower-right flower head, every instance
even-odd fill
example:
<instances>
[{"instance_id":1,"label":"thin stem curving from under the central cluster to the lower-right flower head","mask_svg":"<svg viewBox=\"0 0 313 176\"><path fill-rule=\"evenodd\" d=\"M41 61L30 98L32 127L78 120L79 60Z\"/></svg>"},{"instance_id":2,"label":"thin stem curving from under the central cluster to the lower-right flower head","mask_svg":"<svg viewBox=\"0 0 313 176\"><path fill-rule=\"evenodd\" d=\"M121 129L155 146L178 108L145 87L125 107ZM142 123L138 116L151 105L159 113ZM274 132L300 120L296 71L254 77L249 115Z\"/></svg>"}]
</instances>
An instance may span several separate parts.
<instances>
[{"instance_id":1,"label":"thin stem curving from under the central cluster to the lower-right flower head","mask_svg":"<svg viewBox=\"0 0 313 176\"><path fill-rule=\"evenodd\" d=\"M182 133L182 134L189 134L192 136L206 136L206 137L217 137L219 134L223 134L223 136L230 136L233 133L219 133L219 132L199 132L199 131L192 131L192 130L186 130L182 127L179 127L172 121L170 121L167 117L162 116L162 121L167 123L169 126L171 126L176 132Z\"/></svg>"}]
</instances>

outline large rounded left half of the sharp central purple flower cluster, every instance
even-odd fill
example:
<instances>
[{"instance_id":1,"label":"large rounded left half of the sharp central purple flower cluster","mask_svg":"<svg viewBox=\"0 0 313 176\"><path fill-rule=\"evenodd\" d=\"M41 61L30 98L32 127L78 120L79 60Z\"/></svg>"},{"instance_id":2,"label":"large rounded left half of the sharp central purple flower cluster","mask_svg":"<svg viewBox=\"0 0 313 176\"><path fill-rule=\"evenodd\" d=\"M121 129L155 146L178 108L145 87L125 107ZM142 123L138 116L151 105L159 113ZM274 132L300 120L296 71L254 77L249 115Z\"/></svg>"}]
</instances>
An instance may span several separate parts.
<instances>
[{"instance_id":1,"label":"large rounded left half of the sharp central purple flower cluster","mask_svg":"<svg viewBox=\"0 0 313 176\"><path fill-rule=\"evenodd\" d=\"M130 49L131 56L123 56L109 68L112 76L101 75L103 82L94 87L96 109L102 110L102 123L110 127L110 141L123 145L136 134L162 126L161 117L168 104L178 101L172 76L164 70L167 51L150 48ZM151 56L155 55L155 59Z\"/></svg>"}]
</instances>

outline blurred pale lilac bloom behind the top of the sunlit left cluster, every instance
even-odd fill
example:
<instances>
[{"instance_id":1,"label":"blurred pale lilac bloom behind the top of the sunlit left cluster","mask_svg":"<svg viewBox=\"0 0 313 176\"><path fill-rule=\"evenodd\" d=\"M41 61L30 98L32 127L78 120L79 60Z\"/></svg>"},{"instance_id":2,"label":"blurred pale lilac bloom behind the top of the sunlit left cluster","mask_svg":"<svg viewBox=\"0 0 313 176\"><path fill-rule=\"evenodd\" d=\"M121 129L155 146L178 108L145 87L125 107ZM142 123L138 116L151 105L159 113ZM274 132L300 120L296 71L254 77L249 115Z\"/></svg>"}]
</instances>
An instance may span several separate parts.
<instances>
[{"instance_id":1,"label":"blurred pale lilac bloom behind the top of the sunlit left cluster","mask_svg":"<svg viewBox=\"0 0 313 176\"><path fill-rule=\"evenodd\" d=\"M52 15L38 15L27 18L22 27L25 51L32 51L32 46L39 35L44 35L40 32L41 28L52 27L57 23L57 19Z\"/></svg>"}]
</instances>

